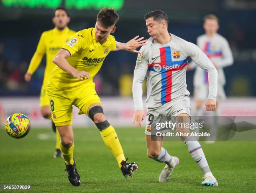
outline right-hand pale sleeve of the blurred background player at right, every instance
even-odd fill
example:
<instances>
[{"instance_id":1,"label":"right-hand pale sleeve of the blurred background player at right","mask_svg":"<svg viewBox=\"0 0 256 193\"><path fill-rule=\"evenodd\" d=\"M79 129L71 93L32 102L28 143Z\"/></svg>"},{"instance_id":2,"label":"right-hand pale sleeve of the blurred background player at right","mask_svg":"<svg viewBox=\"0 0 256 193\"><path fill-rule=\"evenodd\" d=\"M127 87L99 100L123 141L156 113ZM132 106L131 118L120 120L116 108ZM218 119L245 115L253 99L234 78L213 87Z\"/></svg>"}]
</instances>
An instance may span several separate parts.
<instances>
[{"instance_id":1,"label":"right-hand pale sleeve of the blurred background player at right","mask_svg":"<svg viewBox=\"0 0 256 193\"><path fill-rule=\"evenodd\" d=\"M218 67L224 68L233 64L233 55L228 45L228 41L223 39L222 59L217 63Z\"/></svg>"}]
</instances>

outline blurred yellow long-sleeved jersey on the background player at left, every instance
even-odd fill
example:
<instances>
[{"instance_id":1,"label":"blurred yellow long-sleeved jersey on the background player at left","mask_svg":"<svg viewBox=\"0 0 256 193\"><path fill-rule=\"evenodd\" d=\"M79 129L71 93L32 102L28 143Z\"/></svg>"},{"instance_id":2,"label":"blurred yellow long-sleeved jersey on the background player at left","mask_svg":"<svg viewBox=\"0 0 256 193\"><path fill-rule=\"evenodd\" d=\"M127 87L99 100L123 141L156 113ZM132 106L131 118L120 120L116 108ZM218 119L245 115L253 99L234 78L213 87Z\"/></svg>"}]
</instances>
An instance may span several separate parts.
<instances>
[{"instance_id":1,"label":"blurred yellow long-sleeved jersey on the background player at left","mask_svg":"<svg viewBox=\"0 0 256 193\"><path fill-rule=\"evenodd\" d=\"M43 88L46 87L51 71L56 66L56 64L52 62L54 56L59 52L62 46L68 42L69 38L75 35L75 33L75 31L70 30L69 28L65 28L61 31L54 28L42 33L36 48L36 53L34 54L34 57L38 56L37 60L31 60L28 73L33 74L35 72L38 65L41 63L41 59L43 58L44 54L46 54L46 67L44 72L44 82L42 85Z\"/></svg>"}]
</instances>

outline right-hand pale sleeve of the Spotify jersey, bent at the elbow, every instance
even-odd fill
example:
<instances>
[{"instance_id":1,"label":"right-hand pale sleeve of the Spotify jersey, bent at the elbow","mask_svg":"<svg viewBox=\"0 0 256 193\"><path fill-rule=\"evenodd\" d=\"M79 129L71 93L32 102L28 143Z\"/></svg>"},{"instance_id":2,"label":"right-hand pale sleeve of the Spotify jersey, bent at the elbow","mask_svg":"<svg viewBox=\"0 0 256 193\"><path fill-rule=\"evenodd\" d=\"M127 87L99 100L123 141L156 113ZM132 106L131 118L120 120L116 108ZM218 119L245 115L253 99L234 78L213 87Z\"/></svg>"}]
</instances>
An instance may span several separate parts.
<instances>
[{"instance_id":1,"label":"right-hand pale sleeve of the Spotify jersey, bent at the elbow","mask_svg":"<svg viewBox=\"0 0 256 193\"><path fill-rule=\"evenodd\" d=\"M209 94L208 99L216 100L217 90L218 90L218 71L215 66L212 64L210 59L205 55L205 53L200 50L195 44L188 43L189 50L188 56L203 70L206 70L208 73L209 79Z\"/></svg>"}]
</instances>

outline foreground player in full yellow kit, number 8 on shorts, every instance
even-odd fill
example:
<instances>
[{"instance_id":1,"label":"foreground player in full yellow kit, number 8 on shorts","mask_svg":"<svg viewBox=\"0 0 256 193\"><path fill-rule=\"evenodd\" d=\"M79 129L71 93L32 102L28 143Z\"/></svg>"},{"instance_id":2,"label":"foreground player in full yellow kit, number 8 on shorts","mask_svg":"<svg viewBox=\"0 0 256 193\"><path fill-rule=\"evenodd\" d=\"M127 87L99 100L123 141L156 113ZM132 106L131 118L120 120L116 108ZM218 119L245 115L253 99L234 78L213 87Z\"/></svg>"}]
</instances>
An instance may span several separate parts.
<instances>
[{"instance_id":1,"label":"foreground player in full yellow kit, number 8 on shorts","mask_svg":"<svg viewBox=\"0 0 256 193\"><path fill-rule=\"evenodd\" d=\"M128 43L115 41L113 35L119 16L114 9L102 8L97 14L95 28L77 32L54 57L56 64L47 84L47 95L51 102L53 121L61 136L60 149L63 154L69 182L80 185L80 176L73 158L74 133L72 128L72 105L79 114L86 114L100 130L105 145L112 151L125 178L138 169L135 162L127 163L118 136L106 119L93 77L111 51L127 50L139 53L136 48L146 40L136 36ZM100 158L100 155L99 155ZM104 167L102 165L101 167Z\"/></svg>"}]
</instances>

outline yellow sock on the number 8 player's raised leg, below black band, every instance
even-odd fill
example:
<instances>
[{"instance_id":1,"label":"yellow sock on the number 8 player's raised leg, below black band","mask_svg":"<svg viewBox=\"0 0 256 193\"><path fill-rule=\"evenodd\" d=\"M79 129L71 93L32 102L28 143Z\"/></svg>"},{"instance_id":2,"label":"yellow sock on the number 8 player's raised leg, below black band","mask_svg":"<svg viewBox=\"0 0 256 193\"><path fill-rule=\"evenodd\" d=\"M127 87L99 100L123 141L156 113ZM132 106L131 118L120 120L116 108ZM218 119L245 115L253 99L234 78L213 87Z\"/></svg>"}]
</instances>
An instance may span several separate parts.
<instances>
[{"instance_id":1,"label":"yellow sock on the number 8 player's raised leg, below black band","mask_svg":"<svg viewBox=\"0 0 256 193\"><path fill-rule=\"evenodd\" d=\"M123 154L123 149L118 140L117 134L115 133L115 129L110 125L108 128L100 131L100 135L105 145L114 154L116 160L118 161L118 165L121 168L121 162L125 160L125 156Z\"/></svg>"}]
</instances>

